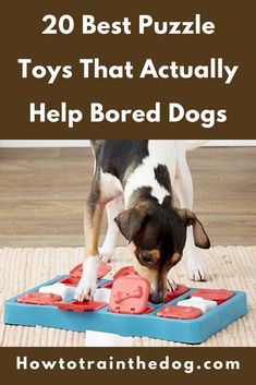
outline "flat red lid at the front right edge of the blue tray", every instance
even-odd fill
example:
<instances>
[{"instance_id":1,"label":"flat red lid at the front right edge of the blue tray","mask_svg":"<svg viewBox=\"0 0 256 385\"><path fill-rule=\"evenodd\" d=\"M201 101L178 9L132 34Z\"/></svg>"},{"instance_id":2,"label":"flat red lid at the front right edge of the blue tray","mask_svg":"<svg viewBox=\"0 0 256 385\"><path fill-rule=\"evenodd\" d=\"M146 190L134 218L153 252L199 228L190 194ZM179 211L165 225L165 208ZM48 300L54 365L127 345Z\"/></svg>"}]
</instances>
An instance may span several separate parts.
<instances>
[{"instance_id":1,"label":"flat red lid at the front right edge of the blue tray","mask_svg":"<svg viewBox=\"0 0 256 385\"><path fill-rule=\"evenodd\" d=\"M157 316L164 318L194 320L203 314L200 309L193 306L170 305L157 312Z\"/></svg>"}]
</instances>

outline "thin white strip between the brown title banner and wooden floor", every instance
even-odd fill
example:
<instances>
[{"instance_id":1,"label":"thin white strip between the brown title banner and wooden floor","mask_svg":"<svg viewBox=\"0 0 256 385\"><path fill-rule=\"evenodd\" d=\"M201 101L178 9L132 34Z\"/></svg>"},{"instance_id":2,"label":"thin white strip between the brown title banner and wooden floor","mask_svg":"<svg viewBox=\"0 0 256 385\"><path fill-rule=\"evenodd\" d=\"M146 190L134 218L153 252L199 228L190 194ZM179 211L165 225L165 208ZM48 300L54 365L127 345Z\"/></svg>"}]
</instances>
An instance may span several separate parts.
<instances>
[{"instance_id":1,"label":"thin white strip between the brown title banner and wooden floor","mask_svg":"<svg viewBox=\"0 0 256 385\"><path fill-rule=\"evenodd\" d=\"M197 141L188 141L197 142ZM0 148L27 148L27 147L87 147L89 141L0 141ZM252 141L208 141L205 146L256 146L256 140Z\"/></svg>"}]
</instances>

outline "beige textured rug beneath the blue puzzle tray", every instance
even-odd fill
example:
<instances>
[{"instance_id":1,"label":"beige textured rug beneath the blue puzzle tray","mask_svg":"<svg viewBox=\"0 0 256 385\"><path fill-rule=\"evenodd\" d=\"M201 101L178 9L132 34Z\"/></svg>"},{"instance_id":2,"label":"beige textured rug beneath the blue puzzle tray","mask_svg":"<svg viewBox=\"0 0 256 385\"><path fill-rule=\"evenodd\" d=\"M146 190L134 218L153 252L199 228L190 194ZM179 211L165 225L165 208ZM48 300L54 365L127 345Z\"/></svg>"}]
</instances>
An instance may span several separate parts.
<instances>
[{"instance_id":1,"label":"beige textured rug beneath the blue puzzle tray","mask_svg":"<svg viewBox=\"0 0 256 385\"><path fill-rule=\"evenodd\" d=\"M182 261L173 269L176 282L187 286L244 290L248 299L248 314L216 334L200 346L256 346L256 246L217 246L203 251L209 274L206 284L191 282ZM5 299L42 284L57 275L68 273L83 261L83 249L0 249L0 312ZM124 248L118 248L110 276L120 267L131 264ZM2 320L2 318L1 318ZM84 346L85 334L47 327L0 325L1 346ZM185 346L150 338L134 338L134 346Z\"/></svg>"}]
</instances>

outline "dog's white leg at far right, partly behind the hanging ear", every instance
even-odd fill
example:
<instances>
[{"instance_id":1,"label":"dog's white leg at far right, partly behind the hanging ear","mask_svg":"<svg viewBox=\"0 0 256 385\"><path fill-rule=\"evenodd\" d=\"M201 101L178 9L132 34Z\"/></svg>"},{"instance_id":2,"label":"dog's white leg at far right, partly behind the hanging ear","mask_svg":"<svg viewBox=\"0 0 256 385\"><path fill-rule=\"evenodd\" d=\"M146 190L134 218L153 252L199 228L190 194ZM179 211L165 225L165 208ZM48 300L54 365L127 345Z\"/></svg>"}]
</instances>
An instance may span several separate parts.
<instances>
[{"instance_id":1,"label":"dog's white leg at far right, partly behind the hanging ear","mask_svg":"<svg viewBox=\"0 0 256 385\"><path fill-rule=\"evenodd\" d=\"M180 201L181 207L192 210L194 197L191 170L186 161L185 149L182 147L182 143L179 143L178 146L181 146L181 148L178 148L176 152L176 173L173 189ZM184 254L186 256L186 267L190 279L199 281L206 280L207 276L203 267L199 250L195 246L192 226L187 227Z\"/></svg>"}]
</instances>

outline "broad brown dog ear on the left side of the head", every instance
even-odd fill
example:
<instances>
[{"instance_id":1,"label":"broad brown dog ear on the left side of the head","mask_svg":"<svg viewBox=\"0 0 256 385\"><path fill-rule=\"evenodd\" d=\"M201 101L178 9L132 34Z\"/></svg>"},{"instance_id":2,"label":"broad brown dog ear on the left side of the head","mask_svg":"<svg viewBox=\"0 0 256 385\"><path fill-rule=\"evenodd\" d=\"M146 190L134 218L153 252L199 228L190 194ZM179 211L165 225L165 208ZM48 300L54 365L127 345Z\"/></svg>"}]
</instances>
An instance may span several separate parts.
<instances>
[{"instance_id":1,"label":"broad brown dog ear on the left side of the head","mask_svg":"<svg viewBox=\"0 0 256 385\"><path fill-rule=\"evenodd\" d=\"M114 218L114 221L130 243L141 230L146 217L147 207L142 205L125 209Z\"/></svg>"}]
</instances>

